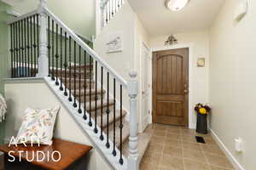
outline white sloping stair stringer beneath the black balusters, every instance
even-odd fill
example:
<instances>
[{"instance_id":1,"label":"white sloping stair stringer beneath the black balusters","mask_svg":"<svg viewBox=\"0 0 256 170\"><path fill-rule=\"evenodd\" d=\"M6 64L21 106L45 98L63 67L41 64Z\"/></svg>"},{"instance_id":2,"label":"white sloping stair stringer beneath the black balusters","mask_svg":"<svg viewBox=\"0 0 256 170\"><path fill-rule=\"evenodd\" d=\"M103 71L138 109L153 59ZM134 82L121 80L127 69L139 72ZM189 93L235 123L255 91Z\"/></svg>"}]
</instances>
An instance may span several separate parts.
<instances>
[{"instance_id":1,"label":"white sloping stair stringer beneath the black balusters","mask_svg":"<svg viewBox=\"0 0 256 170\"><path fill-rule=\"evenodd\" d=\"M73 103L69 102L67 99L67 96L63 94L63 91L59 89L59 86L55 85L55 81L52 81L50 77L44 77L44 81L46 82L47 86L49 89L55 94L55 96L61 101L61 104L64 105L69 112L71 116L73 116L73 119L75 122L78 123L79 127L83 129L84 133L87 135L87 137L90 139L91 143L94 144L93 147L99 151L99 153L102 154L104 159L109 163L113 169L116 170L127 170L127 159L125 156L122 156L124 159L124 164L120 165L119 164L119 157L120 157L120 152L119 149L116 147L116 152L117 155L113 156L112 151L113 148L110 147L109 149L106 148L106 139L107 135L106 133L103 132L103 141L100 139L100 133L95 133L94 132L94 127L89 126L89 118L87 120L84 120L83 114L79 114L78 108L73 107ZM65 88L64 84L62 85L63 88ZM72 99L74 99L72 95ZM79 101L77 101L79 103ZM84 108L81 106L82 111L84 111ZM89 113L86 111L86 116L89 117ZM91 119L92 124L94 124L94 120ZM97 126L97 129L100 129L100 127ZM113 146L113 142L111 139L109 139L109 144L110 146Z\"/></svg>"}]
</instances>

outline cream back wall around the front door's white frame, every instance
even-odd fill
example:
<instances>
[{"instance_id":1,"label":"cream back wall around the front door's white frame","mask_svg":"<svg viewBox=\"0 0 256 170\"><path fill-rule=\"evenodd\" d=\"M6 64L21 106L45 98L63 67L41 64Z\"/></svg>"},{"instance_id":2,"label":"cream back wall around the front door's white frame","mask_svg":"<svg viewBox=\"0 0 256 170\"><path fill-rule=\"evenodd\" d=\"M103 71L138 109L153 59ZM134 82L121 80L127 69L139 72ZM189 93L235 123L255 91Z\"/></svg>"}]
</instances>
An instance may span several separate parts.
<instances>
[{"instance_id":1,"label":"cream back wall around the front door's white frame","mask_svg":"<svg viewBox=\"0 0 256 170\"><path fill-rule=\"evenodd\" d=\"M151 48L163 48L167 36L152 37L150 41ZM177 38L177 46L182 44L192 44L192 105L196 103L207 103L208 96L208 73L209 73L209 31L192 31L178 33L174 35ZM197 67L196 61L198 58L204 57L206 59L205 67ZM189 113L190 114L190 113ZM193 111L192 125L195 128L196 115Z\"/></svg>"}]
</instances>

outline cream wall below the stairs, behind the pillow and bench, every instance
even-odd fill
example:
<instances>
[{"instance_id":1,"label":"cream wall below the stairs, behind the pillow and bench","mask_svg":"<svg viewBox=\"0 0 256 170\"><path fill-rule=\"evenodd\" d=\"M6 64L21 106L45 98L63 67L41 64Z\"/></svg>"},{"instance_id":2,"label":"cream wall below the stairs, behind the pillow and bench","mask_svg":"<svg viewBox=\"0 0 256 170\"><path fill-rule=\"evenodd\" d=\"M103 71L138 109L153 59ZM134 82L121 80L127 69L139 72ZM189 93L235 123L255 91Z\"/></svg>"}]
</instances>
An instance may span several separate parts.
<instances>
[{"instance_id":1,"label":"cream wall below the stairs, behind the pillow and bench","mask_svg":"<svg viewBox=\"0 0 256 170\"><path fill-rule=\"evenodd\" d=\"M84 131L79 127L77 122L73 120L73 116L68 113L65 106L61 104L60 100L56 98L55 94L53 94L44 81L7 82L5 85L5 97L7 105L9 105L5 128L7 138L15 136L18 133L22 116L24 116L24 111L27 107L45 109L59 105L61 106L61 110L56 119L55 137L79 144L92 145ZM88 164L84 169L112 169L95 149L90 151L86 161L88 161Z\"/></svg>"}]
</instances>

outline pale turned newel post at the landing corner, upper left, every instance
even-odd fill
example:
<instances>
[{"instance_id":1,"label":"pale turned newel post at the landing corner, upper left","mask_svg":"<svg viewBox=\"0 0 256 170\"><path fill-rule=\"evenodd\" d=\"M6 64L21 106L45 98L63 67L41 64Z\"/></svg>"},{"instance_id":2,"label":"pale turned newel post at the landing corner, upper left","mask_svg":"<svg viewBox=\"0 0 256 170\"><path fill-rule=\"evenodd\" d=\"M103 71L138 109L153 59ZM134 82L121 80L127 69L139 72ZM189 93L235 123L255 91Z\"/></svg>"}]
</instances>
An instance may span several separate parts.
<instances>
[{"instance_id":1,"label":"pale turned newel post at the landing corner, upper left","mask_svg":"<svg viewBox=\"0 0 256 170\"><path fill-rule=\"evenodd\" d=\"M47 40L47 15L44 12L46 0L40 0L38 13L40 15L40 35L39 35L39 58L37 77L47 77L49 75L48 40Z\"/></svg>"}]
</instances>

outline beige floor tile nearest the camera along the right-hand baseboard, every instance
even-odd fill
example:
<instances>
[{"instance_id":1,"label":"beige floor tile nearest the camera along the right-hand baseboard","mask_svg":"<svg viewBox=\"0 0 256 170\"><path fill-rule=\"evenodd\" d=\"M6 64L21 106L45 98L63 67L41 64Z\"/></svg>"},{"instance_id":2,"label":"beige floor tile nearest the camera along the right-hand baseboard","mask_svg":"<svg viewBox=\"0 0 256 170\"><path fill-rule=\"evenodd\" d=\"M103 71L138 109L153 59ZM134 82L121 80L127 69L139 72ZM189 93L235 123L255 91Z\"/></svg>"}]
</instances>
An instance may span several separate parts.
<instances>
[{"instance_id":1,"label":"beige floor tile nearest the camera along the right-hand baseboard","mask_svg":"<svg viewBox=\"0 0 256 170\"><path fill-rule=\"evenodd\" d=\"M207 161L213 166L233 168L230 161L225 156L205 155L207 156Z\"/></svg>"}]
</instances>

